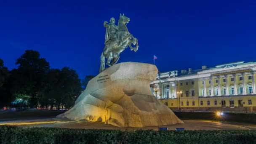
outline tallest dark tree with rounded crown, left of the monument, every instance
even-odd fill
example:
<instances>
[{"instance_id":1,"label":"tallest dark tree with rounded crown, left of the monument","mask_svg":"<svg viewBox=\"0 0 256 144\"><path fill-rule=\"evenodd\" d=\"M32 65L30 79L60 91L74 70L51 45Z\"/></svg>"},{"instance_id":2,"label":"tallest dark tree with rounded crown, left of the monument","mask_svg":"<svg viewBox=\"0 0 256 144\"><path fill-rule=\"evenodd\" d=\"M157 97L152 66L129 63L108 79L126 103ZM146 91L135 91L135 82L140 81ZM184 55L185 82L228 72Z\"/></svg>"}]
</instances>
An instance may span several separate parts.
<instances>
[{"instance_id":1,"label":"tallest dark tree with rounded crown, left of the monument","mask_svg":"<svg viewBox=\"0 0 256 144\"><path fill-rule=\"evenodd\" d=\"M16 60L18 69L13 71L16 79L15 91L19 94L30 96L30 107L37 106L37 96L42 88L42 80L50 69L48 61L40 58L40 53L33 50L26 50Z\"/></svg>"}]
</instances>

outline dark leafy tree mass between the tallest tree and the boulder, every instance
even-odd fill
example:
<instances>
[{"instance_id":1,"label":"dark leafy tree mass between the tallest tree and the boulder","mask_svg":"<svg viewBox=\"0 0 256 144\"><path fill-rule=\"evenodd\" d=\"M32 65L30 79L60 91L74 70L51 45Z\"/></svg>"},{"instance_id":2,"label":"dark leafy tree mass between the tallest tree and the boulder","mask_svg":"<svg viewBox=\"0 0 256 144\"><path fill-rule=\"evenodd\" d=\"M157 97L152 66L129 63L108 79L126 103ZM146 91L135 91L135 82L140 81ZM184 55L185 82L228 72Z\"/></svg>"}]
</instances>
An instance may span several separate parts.
<instances>
[{"instance_id":1,"label":"dark leafy tree mass between the tallest tree and the boulder","mask_svg":"<svg viewBox=\"0 0 256 144\"><path fill-rule=\"evenodd\" d=\"M70 108L81 93L80 79L75 70L64 67L61 70L51 69L43 79L43 89L40 92L41 107L56 106Z\"/></svg>"}]
</instances>

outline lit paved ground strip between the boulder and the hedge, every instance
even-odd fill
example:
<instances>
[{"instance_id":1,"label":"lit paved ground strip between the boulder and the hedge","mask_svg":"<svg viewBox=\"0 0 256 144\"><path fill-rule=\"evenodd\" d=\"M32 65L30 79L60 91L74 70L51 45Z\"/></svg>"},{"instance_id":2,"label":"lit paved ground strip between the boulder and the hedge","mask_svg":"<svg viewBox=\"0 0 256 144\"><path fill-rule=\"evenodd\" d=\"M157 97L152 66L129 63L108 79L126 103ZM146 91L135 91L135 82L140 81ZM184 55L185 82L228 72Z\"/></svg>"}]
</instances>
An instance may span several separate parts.
<instances>
[{"instance_id":1,"label":"lit paved ground strip between the boulder and the hedge","mask_svg":"<svg viewBox=\"0 0 256 144\"><path fill-rule=\"evenodd\" d=\"M184 124L152 126L145 128L118 128L112 125L96 122L70 122L57 121L52 118L46 119L29 119L29 120L12 120L2 121L0 125L16 125L20 127L54 127L54 128L83 128L83 129L121 129L121 130L137 130L137 129L154 129L158 127L168 127L168 130L175 128L185 128L185 130L256 130L256 125L246 123L230 123L230 122L213 122L203 120L183 120Z\"/></svg>"}]
</instances>

